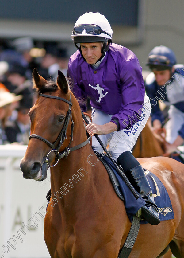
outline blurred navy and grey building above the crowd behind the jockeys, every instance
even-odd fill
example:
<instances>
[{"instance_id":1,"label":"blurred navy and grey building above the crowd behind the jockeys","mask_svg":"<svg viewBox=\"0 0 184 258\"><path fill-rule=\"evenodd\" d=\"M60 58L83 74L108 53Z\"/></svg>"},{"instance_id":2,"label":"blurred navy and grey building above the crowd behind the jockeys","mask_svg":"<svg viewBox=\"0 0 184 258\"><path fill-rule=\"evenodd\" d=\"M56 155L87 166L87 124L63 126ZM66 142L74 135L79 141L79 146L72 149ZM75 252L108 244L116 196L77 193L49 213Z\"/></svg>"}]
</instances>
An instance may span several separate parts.
<instances>
[{"instance_id":1,"label":"blurred navy and grey building above the crowd behind the jockeys","mask_svg":"<svg viewBox=\"0 0 184 258\"><path fill-rule=\"evenodd\" d=\"M43 5L41 1L17 0L15 5L13 0L0 1L2 10L0 41L25 36L39 41L57 41L62 42L62 45L67 47L68 54L71 55L76 51L70 38L76 19L84 12L98 11L104 14L112 24L113 42L131 49L144 70L148 70L145 66L148 53L156 45L166 45L171 48L176 54L177 63L183 63L183 1L115 0L112 5L112 1L102 0L99 5L96 0L95 3L93 1L86 5L86 2L82 0L79 5L77 1L71 0L67 2L56 0L54 3L47 0ZM32 12L29 11L30 6L33 6L34 12L32 9ZM15 11L10 18L13 9ZM43 9L47 10L48 15L38 21L37 17L43 13ZM57 17L55 10L59 10L60 15ZM21 17L15 18L15 13L21 14ZM9 16L7 17L6 14ZM134 21L135 15L136 21ZM68 18L64 20L63 16L68 16Z\"/></svg>"}]
</instances>

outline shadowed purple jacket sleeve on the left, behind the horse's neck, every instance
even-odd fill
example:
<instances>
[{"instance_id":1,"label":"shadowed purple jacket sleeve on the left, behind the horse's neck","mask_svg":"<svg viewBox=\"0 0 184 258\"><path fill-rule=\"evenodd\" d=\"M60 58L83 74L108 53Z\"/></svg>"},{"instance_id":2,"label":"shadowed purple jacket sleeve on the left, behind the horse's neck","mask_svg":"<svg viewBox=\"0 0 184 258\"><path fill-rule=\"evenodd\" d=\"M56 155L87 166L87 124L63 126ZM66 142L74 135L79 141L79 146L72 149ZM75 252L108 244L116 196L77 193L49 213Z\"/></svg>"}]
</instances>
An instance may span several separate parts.
<instances>
[{"instance_id":1,"label":"shadowed purple jacket sleeve on the left, behind the horse's neck","mask_svg":"<svg viewBox=\"0 0 184 258\"><path fill-rule=\"evenodd\" d=\"M70 82L71 91L73 92L74 96L78 100L80 108L82 109L83 112L86 112L87 96L86 96L86 93L82 90L82 88L79 87L77 83L76 74L74 73L74 71L77 71L77 69L73 66L74 65L70 60L68 63L67 78L69 79L69 82Z\"/></svg>"}]
</instances>

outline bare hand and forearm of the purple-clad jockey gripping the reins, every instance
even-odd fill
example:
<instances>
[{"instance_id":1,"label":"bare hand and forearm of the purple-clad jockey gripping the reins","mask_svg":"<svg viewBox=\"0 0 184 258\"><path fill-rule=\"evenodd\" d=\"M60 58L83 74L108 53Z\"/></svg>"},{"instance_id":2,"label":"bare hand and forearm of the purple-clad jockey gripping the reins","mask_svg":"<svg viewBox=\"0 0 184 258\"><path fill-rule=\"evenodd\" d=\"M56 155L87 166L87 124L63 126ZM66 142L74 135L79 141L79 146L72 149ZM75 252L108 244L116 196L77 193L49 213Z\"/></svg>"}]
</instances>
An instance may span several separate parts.
<instances>
[{"instance_id":1,"label":"bare hand and forearm of the purple-clad jockey gripping the reins","mask_svg":"<svg viewBox=\"0 0 184 258\"><path fill-rule=\"evenodd\" d=\"M89 133L89 135L97 134L97 135L103 135L103 134L109 134L113 131L116 131L117 125L113 122L109 122L103 125L98 125L95 123L90 123L86 126L86 131Z\"/></svg>"}]
</instances>

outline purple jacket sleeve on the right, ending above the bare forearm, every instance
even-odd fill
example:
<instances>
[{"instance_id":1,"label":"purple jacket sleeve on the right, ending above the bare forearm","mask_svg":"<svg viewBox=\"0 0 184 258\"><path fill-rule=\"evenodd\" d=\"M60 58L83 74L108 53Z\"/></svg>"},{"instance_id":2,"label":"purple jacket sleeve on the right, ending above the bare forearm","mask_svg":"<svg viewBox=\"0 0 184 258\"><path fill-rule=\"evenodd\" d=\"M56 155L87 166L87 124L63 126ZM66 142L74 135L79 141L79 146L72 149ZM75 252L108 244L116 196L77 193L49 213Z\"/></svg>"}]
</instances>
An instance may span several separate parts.
<instances>
[{"instance_id":1,"label":"purple jacket sleeve on the right, ending above the bare forearm","mask_svg":"<svg viewBox=\"0 0 184 258\"><path fill-rule=\"evenodd\" d=\"M119 113L111 118L111 122L119 122L120 130L130 128L140 119L144 104L144 80L142 68L137 58L128 61L124 68L119 64L120 89L122 104Z\"/></svg>"}]
</instances>

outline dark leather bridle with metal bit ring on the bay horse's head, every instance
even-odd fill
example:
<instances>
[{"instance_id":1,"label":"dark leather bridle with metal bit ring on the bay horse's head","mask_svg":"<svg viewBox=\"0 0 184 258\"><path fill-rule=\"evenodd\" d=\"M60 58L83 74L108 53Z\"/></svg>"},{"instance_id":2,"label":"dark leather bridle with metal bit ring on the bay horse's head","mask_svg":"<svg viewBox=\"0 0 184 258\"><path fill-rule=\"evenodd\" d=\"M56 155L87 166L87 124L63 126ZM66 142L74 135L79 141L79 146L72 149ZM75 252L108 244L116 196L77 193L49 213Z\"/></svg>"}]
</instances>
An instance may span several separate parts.
<instances>
[{"instance_id":1,"label":"dark leather bridle with metal bit ring on the bay horse's head","mask_svg":"<svg viewBox=\"0 0 184 258\"><path fill-rule=\"evenodd\" d=\"M52 99L58 99L58 100L62 100L66 103L69 104L69 109L67 111L67 115L66 115L66 118L65 118L65 121L64 121L64 125L63 125L63 128L61 130L61 132L59 133L56 141L54 143L51 143L49 142L47 139L43 138L42 136L40 135L37 135L37 134L32 134L29 136L29 140L31 138L37 138L37 139L40 139L41 141L47 143L50 147L51 147L51 151L49 151L49 153L47 154L46 156L46 159L44 162L47 163L48 166L50 166L48 164L48 155L50 154L50 152L54 151L55 154L56 154L56 164L58 163L59 159L61 158L67 158L68 154L71 152L71 151L75 151L79 148L82 148L83 146L85 146L87 143L89 143L91 137L89 137L85 142L83 143L80 143L79 145L76 145L75 147L71 147L69 148L71 142L73 141L73 130L74 130L74 122L72 120L72 115L71 115L71 107L72 107L72 102L71 102L71 96L70 96L70 101L69 100L66 100L66 99L63 99L61 97L58 97L58 96L52 96L52 95L46 95L46 94L42 94L40 93L40 96L41 97L45 97L45 98L52 98ZM59 149L60 147L63 145L63 142L65 139L67 139L67 127L68 127L68 124L69 124L69 121L71 119L71 135L70 135L70 143L68 144L68 146L64 149L64 151L62 151L61 153L59 153ZM54 164L53 166L56 166L56 164ZM53 166L50 166L50 167L53 167Z\"/></svg>"}]
</instances>

